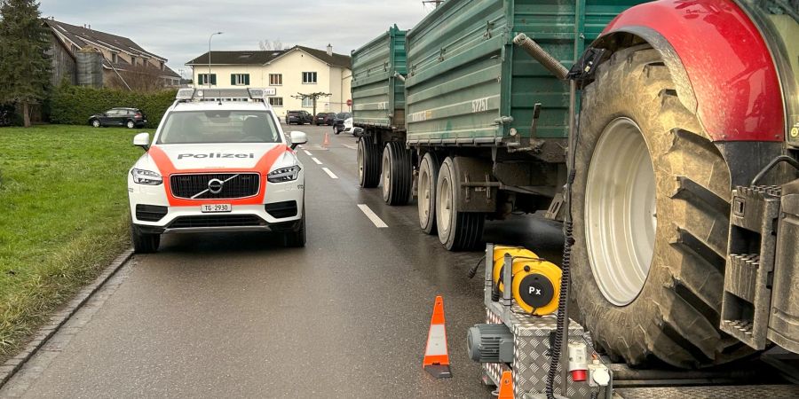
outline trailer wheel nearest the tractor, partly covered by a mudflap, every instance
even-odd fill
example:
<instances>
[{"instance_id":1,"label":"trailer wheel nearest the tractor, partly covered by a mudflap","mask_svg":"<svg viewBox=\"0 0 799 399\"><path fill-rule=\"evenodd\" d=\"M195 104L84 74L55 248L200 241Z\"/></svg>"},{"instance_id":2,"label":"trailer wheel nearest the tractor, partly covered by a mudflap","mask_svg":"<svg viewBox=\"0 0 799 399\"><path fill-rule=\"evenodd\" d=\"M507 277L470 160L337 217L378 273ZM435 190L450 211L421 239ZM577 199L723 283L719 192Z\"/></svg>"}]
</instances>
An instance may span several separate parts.
<instances>
[{"instance_id":1,"label":"trailer wheel nearest the tractor, partly covered by a mudflap","mask_svg":"<svg viewBox=\"0 0 799 399\"><path fill-rule=\"evenodd\" d=\"M447 157L436 180L436 225L441 244L447 250L462 251L477 246L483 237L486 215L458 210L460 190L455 176L455 164L452 158Z\"/></svg>"}]
</instances>

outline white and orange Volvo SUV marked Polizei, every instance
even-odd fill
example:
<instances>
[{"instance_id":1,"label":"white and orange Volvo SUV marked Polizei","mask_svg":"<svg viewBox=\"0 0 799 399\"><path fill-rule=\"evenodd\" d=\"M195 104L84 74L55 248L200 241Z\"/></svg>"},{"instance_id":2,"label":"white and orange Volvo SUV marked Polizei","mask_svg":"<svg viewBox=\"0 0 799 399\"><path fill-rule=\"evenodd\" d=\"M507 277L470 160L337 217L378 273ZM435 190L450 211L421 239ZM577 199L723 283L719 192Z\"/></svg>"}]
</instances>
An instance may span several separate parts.
<instances>
[{"instance_id":1,"label":"white and orange Volvo SUV marked Polizei","mask_svg":"<svg viewBox=\"0 0 799 399\"><path fill-rule=\"evenodd\" d=\"M305 177L265 90L181 89L152 142L128 174L136 252L155 252L161 235L273 231L305 246Z\"/></svg>"}]
</instances>

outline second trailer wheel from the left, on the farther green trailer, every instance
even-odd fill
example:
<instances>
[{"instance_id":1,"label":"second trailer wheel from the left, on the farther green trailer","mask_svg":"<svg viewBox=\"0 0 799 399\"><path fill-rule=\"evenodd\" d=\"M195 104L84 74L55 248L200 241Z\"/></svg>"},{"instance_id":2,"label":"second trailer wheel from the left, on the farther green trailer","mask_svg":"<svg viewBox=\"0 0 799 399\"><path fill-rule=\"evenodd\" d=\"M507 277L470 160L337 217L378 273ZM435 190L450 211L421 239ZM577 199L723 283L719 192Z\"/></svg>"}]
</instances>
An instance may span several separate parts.
<instances>
[{"instance_id":1,"label":"second trailer wheel from the left, on the farther green trailer","mask_svg":"<svg viewBox=\"0 0 799 399\"><path fill-rule=\"evenodd\" d=\"M413 185L411 153L398 141L386 143L383 150L383 200L389 205L405 205Z\"/></svg>"}]
</instances>

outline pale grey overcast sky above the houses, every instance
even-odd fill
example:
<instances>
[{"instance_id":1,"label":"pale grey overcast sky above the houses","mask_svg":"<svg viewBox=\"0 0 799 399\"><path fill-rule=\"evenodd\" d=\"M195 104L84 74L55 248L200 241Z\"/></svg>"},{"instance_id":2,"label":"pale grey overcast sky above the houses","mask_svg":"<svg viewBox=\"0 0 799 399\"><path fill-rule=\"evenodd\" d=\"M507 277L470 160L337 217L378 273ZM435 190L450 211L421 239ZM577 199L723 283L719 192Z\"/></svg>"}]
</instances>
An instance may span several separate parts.
<instances>
[{"instance_id":1,"label":"pale grey overcast sky above the houses","mask_svg":"<svg viewBox=\"0 0 799 399\"><path fill-rule=\"evenodd\" d=\"M258 50L280 39L349 54L396 23L408 29L430 11L422 0L40 0L44 17L130 37L146 51L169 59L178 72L211 48Z\"/></svg>"}]
</instances>

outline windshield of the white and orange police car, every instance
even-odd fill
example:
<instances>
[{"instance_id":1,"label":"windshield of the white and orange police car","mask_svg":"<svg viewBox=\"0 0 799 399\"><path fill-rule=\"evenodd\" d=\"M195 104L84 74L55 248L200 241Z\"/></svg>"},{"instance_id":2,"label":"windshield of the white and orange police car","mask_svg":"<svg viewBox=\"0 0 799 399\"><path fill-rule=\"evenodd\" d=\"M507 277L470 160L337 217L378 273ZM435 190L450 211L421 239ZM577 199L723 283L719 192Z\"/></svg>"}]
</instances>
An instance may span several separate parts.
<instances>
[{"instance_id":1,"label":"windshield of the white and orange police car","mask_svg":"<svg viewBox=\"0 0 799 399\"><path fill-rule=\"evenodd\" d=\"M163 124L157 144L280 143L268 111L178 111Z\"/></svg>"}]
</instances>

